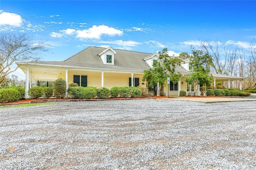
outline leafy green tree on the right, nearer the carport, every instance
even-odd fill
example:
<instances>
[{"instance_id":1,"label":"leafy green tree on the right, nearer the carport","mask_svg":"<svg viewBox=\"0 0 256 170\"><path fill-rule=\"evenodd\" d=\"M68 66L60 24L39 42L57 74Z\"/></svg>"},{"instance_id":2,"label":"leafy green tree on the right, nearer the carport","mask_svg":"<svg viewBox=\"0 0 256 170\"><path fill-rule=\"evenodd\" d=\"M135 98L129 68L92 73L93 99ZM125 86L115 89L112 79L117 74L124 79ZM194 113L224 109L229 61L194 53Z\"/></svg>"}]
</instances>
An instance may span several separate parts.
<instances>
[{"instance_id":1,"label":"leafy green tree on the right, nearer the carport","mask_svg":"<svg viewBox=\"0 0 256 170\"><path fill-rule=\"evenodd\" d=\"M211 84L213 77L210 74L210 67L213 63L212 57L208 53L203 53L202 50L192 48L192 54L190 56L190 71L192 74L186 77L185 81L188 84L192 84L192 81L196 82L196 89L198 90L198 84L205 87Z\"/></svg>"}]
</instances>

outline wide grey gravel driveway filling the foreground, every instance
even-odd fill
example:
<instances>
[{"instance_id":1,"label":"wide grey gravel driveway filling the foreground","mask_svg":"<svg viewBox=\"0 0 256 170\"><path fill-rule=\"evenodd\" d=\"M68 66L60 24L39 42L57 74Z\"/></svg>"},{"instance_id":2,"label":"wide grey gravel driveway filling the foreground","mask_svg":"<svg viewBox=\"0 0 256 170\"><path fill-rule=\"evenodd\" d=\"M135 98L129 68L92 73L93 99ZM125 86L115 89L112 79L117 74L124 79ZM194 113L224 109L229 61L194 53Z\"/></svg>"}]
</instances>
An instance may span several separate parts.
<instances>
[{"instance_id":1,"label":"wide grey gravel driveway filling the foreground","mask_svg":"<svg viewBox=\"0 0 256 170\"><path fill-rule=\"evenodd\" d=\"M256 102L0 107L0 169L256 169Z\"/></svg>"}]
</instances>

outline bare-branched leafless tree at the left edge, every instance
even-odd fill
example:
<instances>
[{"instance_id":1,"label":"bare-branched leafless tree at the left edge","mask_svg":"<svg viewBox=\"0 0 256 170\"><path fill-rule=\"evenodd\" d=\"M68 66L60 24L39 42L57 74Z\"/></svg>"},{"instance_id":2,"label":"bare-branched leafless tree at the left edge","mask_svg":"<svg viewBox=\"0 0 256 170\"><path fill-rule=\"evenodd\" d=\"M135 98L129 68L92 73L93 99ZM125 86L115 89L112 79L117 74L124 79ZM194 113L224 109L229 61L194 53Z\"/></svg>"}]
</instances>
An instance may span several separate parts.
<instances>
[{"instance_id":1,"label":"bare-branched leafless tree at the left edge","mask_svg":"<svg viewBox=\"0 0 256 170\"><path fill-rule=\"evenodd\" d=\"M11 69L16 61L37 61L38 51L46 51L44 42L33 42L32 37L21 33L0 34L0 85L4 78L16 71Z\"/></svg>"}]
</instances>

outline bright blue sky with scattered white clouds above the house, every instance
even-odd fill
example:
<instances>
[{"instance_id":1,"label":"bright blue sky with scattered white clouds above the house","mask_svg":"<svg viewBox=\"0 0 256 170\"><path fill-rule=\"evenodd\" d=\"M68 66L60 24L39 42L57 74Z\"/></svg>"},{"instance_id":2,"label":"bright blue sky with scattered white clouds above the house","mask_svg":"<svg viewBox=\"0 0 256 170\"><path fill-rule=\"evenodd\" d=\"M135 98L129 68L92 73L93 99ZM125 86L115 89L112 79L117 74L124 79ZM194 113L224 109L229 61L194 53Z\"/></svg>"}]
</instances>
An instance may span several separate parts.
<instances>
[{"instance_id":1,"label":"bright blue sky with scattered white clouds above the house","mask_svg":"<svg viewBox=\"0 0 256 170\"><path fill-rule=\"evenodd\" d=\"M0 32L46 41L42 61L61 61L88 46L170 55L198 41L247 49L256 38L256 1L0 0ZM25 74L16 71L24 78Z\"/></svg>"}]
</instances>

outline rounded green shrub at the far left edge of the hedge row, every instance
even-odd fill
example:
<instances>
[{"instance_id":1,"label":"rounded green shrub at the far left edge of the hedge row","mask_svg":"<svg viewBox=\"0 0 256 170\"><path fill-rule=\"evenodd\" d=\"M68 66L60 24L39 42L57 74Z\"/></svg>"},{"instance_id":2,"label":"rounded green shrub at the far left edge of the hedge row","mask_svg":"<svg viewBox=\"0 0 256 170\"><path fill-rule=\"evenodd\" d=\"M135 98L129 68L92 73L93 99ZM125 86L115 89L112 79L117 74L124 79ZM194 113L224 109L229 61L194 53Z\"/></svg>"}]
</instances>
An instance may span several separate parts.
<instances>
[{"instance_id":1,"label":"rounded green shrub at the far left edge of the hedge row","mask_svg":"<svg viewBox=\"0 0 256 170\"><path fill-rule=\"evenodd\" d=\"M20 92L17 89L1 89L0 103L16 102L20 99Z\"/></svg>"}]
</instances>

